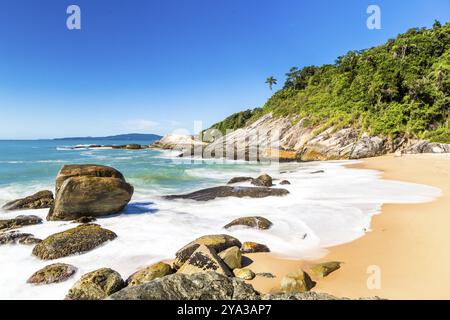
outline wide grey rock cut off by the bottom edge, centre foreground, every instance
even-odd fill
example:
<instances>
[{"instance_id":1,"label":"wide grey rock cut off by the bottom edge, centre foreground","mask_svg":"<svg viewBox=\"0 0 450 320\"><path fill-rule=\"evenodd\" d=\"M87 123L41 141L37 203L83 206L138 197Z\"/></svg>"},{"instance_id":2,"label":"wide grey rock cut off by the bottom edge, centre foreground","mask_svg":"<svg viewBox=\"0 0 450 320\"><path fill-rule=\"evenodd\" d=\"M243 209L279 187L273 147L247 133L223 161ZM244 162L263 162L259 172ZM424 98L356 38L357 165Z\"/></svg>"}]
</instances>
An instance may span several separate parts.
<instances>
[{"instance_id":1,"label":"wide grey rock cut off by the bottom edge, centre foreground","mask_svg":"<svg viewBox=\"0 0 450 320\"><path fill-rule=\"evenodd\" d=\"M216 272L172 274L140 286L127 287L112 300L259 300L253 287Z\"/></svg>"}]
</instances>

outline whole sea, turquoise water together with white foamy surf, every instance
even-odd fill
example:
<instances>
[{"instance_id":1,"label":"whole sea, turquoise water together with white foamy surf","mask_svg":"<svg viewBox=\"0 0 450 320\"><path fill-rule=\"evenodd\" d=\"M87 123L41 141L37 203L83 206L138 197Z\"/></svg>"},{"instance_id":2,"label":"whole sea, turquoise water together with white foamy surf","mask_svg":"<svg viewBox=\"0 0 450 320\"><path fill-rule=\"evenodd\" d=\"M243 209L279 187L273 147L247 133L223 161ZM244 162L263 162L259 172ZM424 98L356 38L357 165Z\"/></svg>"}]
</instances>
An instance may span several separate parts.
<instances>
[{"instance_id":1,"label":"whole sea, turquoise water together with white foamy surf","mask_svg":"<svg viewBox=\"0 0 450 320\"><path fill-rule=\"evenodd\" d=\"M440 190L433 187L382 180L380 172L344 166L354 161L257 164L177 158L176 152L151 149L72 148L129 143L133 141L0 141L0 206L40 190L53 190L55 177L65 164L112 166L135 188L124 212L97 220L118 238L95 250L50 262L32 256L32 246L0 246L0 299L63 299L86 272L109 267L126 279L142 267L173 258L186 243L207 234L226 233L242 242L266 244L279 256L314 259L323 256L328 247L353 241L370 231L371 218L380 212L382 204L426 202L440 195ZM312 174L318 170L324 172ZM289 180L291 185L279 187L290 194L282 198L208 202L162 198L223 185L235 176L257 177L261 173L271 175L275 184ZM47 211L0 209L0 219L19 214L45 219ZM255 215L271 220L273 227L264 231L223 228L235 218ZM42 239L73 227L70 222L45 221L21 231ZM60 284L26 284L32 273L54 262L72 264L78 272Z\"/></svg>"}]
</instances>

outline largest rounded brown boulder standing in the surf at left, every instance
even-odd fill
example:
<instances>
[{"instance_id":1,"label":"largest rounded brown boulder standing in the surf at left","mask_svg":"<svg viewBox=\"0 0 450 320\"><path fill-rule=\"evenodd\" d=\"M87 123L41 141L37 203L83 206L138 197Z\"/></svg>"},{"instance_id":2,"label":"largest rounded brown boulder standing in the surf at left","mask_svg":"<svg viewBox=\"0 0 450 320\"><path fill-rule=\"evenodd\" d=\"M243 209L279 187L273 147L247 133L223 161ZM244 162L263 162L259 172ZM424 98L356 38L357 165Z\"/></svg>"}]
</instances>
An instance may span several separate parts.
<instances>
[{"instance_id":1,"label":"largest rounded brown boulder standing in the surf at left","mask_svg":"<svg viewBox=\"0 0 450 320\"><path fill-rule=\"evenodd\" d=\"M55 205L47 220L67 221L120 212L131 200L133 191L133 186L114 168L64 166L56 178Z\"/></svg>"}]
</instances>

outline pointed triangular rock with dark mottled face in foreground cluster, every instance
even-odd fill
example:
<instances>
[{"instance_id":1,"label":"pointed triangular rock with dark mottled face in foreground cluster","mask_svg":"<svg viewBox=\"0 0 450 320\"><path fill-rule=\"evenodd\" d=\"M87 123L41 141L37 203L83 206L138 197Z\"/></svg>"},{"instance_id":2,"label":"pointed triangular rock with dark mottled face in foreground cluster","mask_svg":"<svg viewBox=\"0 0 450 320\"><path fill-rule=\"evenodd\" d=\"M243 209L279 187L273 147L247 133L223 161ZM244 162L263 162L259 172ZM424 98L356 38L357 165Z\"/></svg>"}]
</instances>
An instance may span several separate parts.
<instances>
[{"instance_id":1,"label":"pointed triangular rock with dark mottled face in foreground cluster","mask_svg":"<svg viewBox=\"0 0 450 320\"><path fill-rule=\"evenodd\" d=\"M214 249L201 244L177 273L194 274L208 271L214 271L224 276L231 276L230 269L228 269L227 265L220 259Z\"/></svg>"}]
</instances>

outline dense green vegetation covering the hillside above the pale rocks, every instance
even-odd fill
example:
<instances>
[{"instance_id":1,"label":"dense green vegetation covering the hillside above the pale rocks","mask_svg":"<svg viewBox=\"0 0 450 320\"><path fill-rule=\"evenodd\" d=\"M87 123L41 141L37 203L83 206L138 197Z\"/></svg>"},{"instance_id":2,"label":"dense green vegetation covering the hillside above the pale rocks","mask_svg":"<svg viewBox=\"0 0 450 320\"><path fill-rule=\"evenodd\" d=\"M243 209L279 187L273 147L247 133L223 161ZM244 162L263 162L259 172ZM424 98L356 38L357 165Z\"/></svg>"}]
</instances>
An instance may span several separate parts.
<instances>
[{"instance_id":1,"label":"dense green vegetation covering the hillside above the pale rocks","mask_svg":"<svg viewBox=\"0 0 450 320\"><path fill-rule=\"evenodd\" d=\"M450 143L450 23L410 29L384 45L351 51L333 65L292 68L262 110L215 125L222 132L262 114L308 118L311 127ZM251 117L248 117L251 113Z\"/></svg>"}]
</instances>

